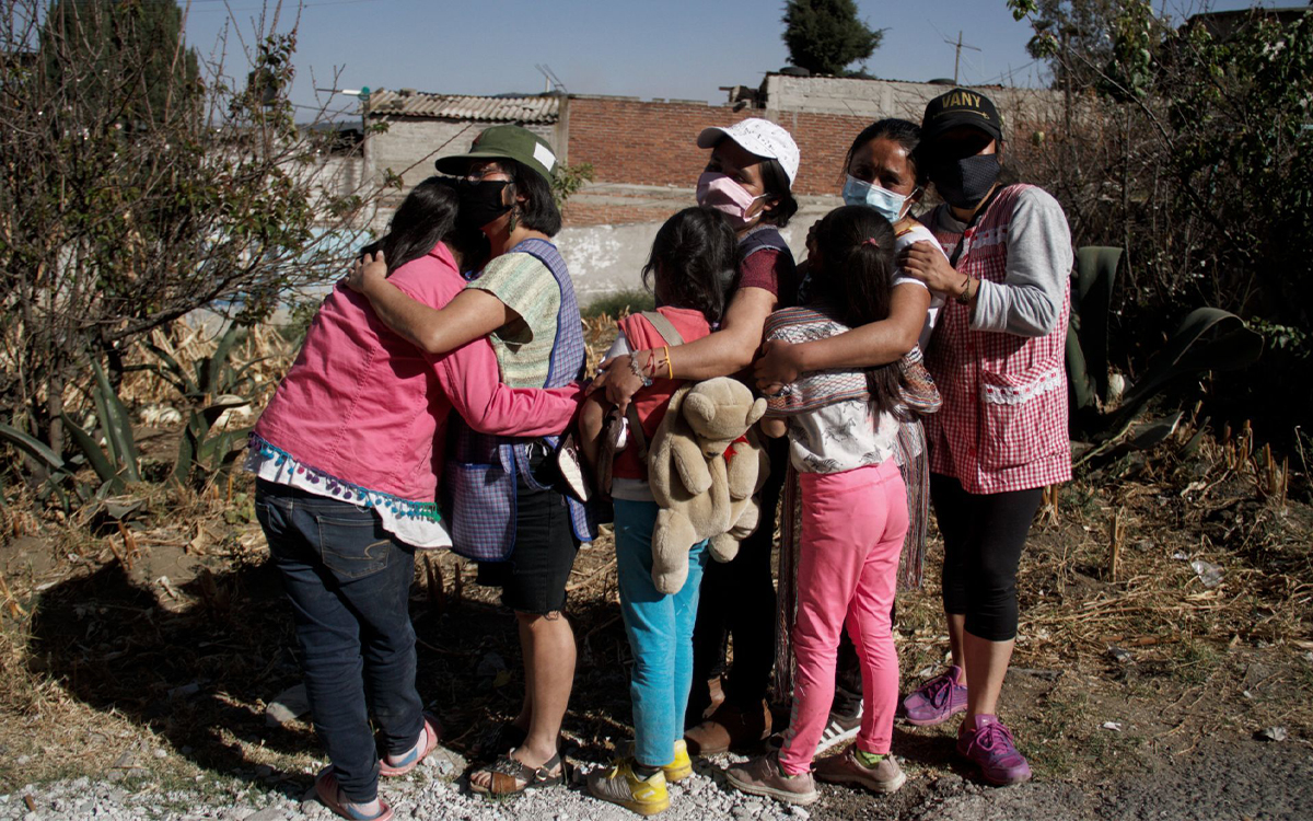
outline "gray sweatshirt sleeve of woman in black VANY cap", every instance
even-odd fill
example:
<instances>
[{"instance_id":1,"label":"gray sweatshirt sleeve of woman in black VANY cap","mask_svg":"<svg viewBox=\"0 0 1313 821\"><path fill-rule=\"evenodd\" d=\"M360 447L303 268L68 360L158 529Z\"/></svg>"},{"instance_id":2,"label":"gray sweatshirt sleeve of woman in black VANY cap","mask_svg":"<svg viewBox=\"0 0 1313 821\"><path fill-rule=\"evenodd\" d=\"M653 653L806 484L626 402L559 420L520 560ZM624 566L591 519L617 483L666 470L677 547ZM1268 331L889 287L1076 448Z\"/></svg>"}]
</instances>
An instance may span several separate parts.
<instances>
[{"instance_id":1,"label":"gray sweatshirt sleeve of woman in black VANY cap","mask_svg":"<svg viewBox=\"0 0 1313 821\"><path fill-rule=\"evenodd\" d=\"M939 225L961 234L966 223L947 208ZM1071 276L1071 230L1050 193L1027 188L1016 196L1007 225L1007 275L1003 282L981 280L972 310L973 331L1046 336L1057 330Z\"/></svg>"}]
</instances>

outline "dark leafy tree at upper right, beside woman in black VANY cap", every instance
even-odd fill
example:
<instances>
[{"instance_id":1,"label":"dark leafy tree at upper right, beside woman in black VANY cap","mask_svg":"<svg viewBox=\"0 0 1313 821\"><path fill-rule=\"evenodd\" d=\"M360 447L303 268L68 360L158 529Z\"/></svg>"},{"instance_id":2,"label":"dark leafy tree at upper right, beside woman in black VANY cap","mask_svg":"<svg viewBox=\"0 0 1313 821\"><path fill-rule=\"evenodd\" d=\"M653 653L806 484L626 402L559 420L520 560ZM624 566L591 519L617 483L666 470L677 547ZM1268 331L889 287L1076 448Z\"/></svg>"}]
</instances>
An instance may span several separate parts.
<instances>
[{"instance_id":1,"label":"dark leafy tree at upper right, beside woman in black VANY cap","mask_svg":"<svg viewBox=\"0 0 1313 821\"><path fill-rule=\"evenodd\" d=\"M1045 37L1043 0L1007 0ZM1299 9L1302 12L1302 9ZM1251 321L1271 345L1254 368L1218 381L1217 415L1266 415L1280 435L1306 424L1313 355L1292 328L1313 324L1313 11L1264 8L1183 25L1148 0L1117 0L1107 56L1083 68L1066 127L1014 141L1028 181L1066 210L1077 244L1127 250L1112 301L1127 370L1188 310L1212 305ZM1039 123L1036 123L1039 125ZM1299 273L1295 273L1299 272ZM1283 394L1271 399L1274 385Z\"/></svg>"}]
</instances>

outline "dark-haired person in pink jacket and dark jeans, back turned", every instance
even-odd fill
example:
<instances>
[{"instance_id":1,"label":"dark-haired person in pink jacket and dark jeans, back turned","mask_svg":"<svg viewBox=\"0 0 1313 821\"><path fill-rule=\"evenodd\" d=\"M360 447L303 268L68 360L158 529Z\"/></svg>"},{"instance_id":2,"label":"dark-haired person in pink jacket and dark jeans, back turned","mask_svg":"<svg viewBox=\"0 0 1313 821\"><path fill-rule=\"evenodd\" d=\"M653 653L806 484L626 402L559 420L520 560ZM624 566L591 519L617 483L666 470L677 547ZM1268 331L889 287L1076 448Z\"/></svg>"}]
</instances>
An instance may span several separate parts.
<instances>
[{"instance_id":1,"label":"dark-haired person in pink jacket and dark jeans, back turned","mask_svg":"<svg viewBox=\"0 0 1313 821\"><path fill-rule=\"evenodd\" d=\"M425 180L370 248L387 260L389 281L431 307L465 286L456 215L450 183ZM559 433L578 393L503 385L486 339L424 353L344 284L319 309L255 427L247 469L257 476L256 515L291 600L311 715L332 762L315 787L337 814L391 818L378 776L408 772L437 745L415 690L407 602L415 549L452 544L435 503L448 412L487 433Z\"/></svg>"}]
</instances>

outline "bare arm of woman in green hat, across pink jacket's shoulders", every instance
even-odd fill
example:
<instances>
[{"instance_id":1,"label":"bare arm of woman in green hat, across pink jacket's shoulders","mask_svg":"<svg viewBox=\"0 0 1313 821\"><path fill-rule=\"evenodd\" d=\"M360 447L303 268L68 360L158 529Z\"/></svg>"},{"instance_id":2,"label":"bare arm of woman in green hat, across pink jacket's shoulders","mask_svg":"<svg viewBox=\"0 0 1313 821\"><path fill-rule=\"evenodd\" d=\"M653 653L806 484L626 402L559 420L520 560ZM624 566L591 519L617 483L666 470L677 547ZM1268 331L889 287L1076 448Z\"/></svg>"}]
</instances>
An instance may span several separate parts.
<instances>
[{"instance_id":1,"label":"bare arm of woman in green hat, across pink jacket's shoulders","mask_svg":"<svg viewBox=\"0 0 1313 821\"><path fill-rule=\"evenodd\" d=\"M428 353L446 353L487 336L519 314L486 290L465 289L446 306L418 302L386 278L383 252L356 261L347 285L365 294L378 318L406 342Z\"/></svg>"}]
</instances>

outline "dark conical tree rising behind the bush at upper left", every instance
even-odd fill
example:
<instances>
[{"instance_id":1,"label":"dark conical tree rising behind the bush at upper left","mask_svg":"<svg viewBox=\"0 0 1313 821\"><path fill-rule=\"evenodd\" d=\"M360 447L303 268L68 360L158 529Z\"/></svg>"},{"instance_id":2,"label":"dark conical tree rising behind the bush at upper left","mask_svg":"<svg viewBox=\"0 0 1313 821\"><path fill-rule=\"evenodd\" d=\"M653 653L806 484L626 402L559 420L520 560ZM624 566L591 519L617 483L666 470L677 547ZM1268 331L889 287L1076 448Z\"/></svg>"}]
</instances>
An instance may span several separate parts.
<instances>
[{"instance_id":1,"label":"dark conical tree rising behind the bush at upper left","mask_svg":"<svg viewBox=\"0 0 1313 821\"><path fill-rule=\"evenodd\" d=\"M50 81L76 81L83 97L114 100L123 123L167 120L169 108L201 91L196 50L183 43L183 11L172 0L53 0L41 41Z\"/></svg>"}]
</instances>

